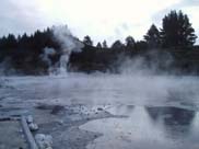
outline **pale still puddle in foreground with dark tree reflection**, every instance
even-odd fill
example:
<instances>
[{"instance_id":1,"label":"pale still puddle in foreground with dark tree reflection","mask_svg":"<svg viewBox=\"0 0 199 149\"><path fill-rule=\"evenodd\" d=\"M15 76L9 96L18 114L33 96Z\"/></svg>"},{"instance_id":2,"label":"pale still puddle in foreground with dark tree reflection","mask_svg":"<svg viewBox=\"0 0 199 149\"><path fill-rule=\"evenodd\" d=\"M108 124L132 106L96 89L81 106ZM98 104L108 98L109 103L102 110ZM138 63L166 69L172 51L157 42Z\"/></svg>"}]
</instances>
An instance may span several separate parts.
<instances>
[{"instance_id":1,"label":"pale still puddle in foreground with dark tree reflection","mask_svg":"<svg viewBox=\"0 0 199 149\"><path fill-rule=\"evenodd\" d=\"M87 149L198 149L199 114L178 107L116 106L114 114L80 128L103 134Z\"/></svg>"}]
</instances>

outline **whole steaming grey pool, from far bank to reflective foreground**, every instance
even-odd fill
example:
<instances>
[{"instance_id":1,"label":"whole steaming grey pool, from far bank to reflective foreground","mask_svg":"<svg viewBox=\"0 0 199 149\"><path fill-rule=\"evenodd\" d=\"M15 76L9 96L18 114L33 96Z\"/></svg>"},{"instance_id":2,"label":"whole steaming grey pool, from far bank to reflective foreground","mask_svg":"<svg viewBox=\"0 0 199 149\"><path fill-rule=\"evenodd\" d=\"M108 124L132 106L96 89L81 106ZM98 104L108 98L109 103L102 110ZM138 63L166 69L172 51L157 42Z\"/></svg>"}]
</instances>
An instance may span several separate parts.
<instances>
[{"instance_id":1,"label":"whole steaming grey pool, from far bank to reflective foreground","mask_svg":"<svg viewBox=\"0 0 199 149\"><path fill-rule=\"evenodd\" d=\"M83 146L77 145L77 148L198 149L199 147L197 77L68 73L46 77L2 77L1 80L1 115L25 114L35 105L45 103L68 107L81 105L90 110L97 108L97 113L103 111L105 115L109 114L109 116L89 117L82 121L83 123L78 122L81 124L78 126L80 130L99 135L91 140L89 138L85 145L79 141ZM9 107L10 111L2 111L2 107ZM77 116L78 114L71 117ZM81 135L79 139L82 139ZM66 141L69 140L71 141L71 139ZM61 148L63 147L60 145Z\"/></svg>"}]
</instances>

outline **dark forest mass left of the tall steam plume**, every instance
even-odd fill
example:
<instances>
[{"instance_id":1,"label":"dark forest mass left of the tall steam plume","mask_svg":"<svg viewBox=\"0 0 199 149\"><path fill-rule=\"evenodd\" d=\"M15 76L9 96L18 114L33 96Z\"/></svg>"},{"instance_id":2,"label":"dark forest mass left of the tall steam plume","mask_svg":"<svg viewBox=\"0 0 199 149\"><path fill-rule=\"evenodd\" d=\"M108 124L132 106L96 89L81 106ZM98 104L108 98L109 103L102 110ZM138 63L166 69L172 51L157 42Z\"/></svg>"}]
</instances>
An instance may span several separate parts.
<instances>
[{"instance_id":1,"label":"dark forest mass left of the tall steam plume","mask_svg":"<svg viewBox=\"0 0 199 149\"><path fill-rule=\"evenodd\" d=\"M55 42L52 31L36 31L33 35L23 34L17 39L9 34L0 38L0 61L10 59L12 68L23 73L40 73L46 71L46 65L40 55L45 47L58 49L59 44ZM57 57L57 56L55 56ZM55 59L51 57L51 59Z\"/></svg>"}]
</instances>

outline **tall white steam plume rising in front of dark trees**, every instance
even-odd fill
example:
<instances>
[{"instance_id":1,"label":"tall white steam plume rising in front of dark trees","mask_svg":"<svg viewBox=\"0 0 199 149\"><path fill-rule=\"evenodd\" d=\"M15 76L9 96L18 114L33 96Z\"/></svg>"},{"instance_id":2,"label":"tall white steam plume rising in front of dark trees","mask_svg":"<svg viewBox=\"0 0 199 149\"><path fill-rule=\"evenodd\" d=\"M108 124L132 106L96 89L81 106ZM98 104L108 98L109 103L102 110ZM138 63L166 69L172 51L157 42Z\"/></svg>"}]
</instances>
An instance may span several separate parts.
<instances>
[{"instance_id":1,"label":"tall white steam plume rising in front of dark trees","mask_svg":"<svg viewBox=\"0 0 199 149\"><path fill-rule=\"evenodd\" d=\"M52 34L56 42L59 43L60 49L57 51L54 48L44 48L44 54L40 56L43 61L45 61L49 67L50 74L67 74L67 66L72 51L81 51L83 44L71 34L67 26L56 26L52 27ZM50 56L59 54L59 61L52 66Z\"/></svg>"}]
</instances>

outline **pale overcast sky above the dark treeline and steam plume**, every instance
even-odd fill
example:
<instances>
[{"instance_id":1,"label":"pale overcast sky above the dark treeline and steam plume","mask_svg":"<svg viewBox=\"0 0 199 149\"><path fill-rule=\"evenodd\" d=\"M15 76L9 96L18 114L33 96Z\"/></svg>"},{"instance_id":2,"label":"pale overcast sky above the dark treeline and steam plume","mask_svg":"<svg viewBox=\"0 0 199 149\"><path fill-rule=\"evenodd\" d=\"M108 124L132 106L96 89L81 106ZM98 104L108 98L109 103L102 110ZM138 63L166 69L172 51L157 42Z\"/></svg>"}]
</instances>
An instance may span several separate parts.
<instances>
[{"instance_id":1,"label":"pale overcast sky above the dark treeline and steam plume","mask_svg":"<svg viewBox=\"0 0 199 149\"><path fill-rule=\"evenodd\" d=\"M188 14L199 36L199 0L1 0L0 36L68 24L80 39L90 35L95 43L128 35L142 39L174 9Z\"/></svg>"}]
</instances>

